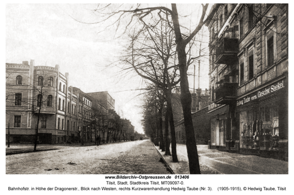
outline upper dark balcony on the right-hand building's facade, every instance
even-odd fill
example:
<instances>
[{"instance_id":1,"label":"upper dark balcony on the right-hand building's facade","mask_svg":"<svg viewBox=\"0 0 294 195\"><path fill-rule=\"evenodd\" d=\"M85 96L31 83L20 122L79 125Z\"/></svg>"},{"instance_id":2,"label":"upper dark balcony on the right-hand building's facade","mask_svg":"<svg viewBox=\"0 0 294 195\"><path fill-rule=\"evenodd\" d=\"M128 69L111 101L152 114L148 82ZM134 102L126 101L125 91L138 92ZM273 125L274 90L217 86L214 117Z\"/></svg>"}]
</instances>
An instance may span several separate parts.
<instances>
[{"instance_id":1,"label":"upper dark balcony on the right-hand building's facade","mask_svg":"<svg viewBox=\"0 0 294 195\"><path fill-rule=\"evenodd\" d=\"M239 39L221 38L216 45L216 64L230 64L238 59Z\"/></svg>"}]
</instances>

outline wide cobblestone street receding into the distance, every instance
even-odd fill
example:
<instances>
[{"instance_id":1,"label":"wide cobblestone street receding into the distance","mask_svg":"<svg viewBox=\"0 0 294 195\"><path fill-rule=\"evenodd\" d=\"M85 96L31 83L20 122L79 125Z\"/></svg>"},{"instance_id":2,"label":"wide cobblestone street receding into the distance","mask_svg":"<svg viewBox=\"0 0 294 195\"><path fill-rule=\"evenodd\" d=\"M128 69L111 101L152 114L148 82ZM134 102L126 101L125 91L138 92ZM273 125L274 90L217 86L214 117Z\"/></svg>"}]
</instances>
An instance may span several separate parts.
<instances>
[{"instance_id":1,"label":"wide cobblestone street receding into the distance","mask_svg":"<svg viewBox=\"0 0 294 195\"><path fill-rule=\"evenodd\" d=\"M150 140L6 156L6 174L170 174Z\"/></svg>"}]
</instances>

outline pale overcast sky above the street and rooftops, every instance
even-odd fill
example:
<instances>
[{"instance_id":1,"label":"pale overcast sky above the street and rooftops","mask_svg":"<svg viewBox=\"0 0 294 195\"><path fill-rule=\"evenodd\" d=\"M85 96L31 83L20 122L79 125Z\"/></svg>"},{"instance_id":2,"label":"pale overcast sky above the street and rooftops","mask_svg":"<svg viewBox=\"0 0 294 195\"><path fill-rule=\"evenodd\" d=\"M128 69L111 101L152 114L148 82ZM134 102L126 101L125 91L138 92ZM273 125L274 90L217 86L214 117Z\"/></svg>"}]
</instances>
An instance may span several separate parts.
<instances>
[{"instance_id":1,"label":"pale overcast sky above the street and rooftops","mask_svg":"<svg viewBox=\"0 0 294 195\"><path fill-rule=\"evenodd\" d=\"M35 66L60 66L61 73L69 73L69 83L85 93L108 91L115 99L116 111L130 120L135 130L141 126L140 92L142 79L133 73L122 76L120 69L108 66L123 52L124 39L115 38L115 26L105 30L105 24L91 9L94 4L6 4L6 63L35 60ZM199 5L181 4L179 14L196 14L184 18L183 23L196 24ZM72 17L73 18L72 18ZM187 26L189 27L189 26ZM103 31L102 31L103 30ZM102 31L102 32L100 32ZM100 32L100 33L98 33ZM196 74L197 74L196 65ZM201 62L200 88L208 88L208 61ZM190 69L193 73L193 67ZM193 88L193 76L190 76ZM197 79L196 79L197 87ZM120 110L120 111L119 111Z\"/></svg>"}]
</instances>

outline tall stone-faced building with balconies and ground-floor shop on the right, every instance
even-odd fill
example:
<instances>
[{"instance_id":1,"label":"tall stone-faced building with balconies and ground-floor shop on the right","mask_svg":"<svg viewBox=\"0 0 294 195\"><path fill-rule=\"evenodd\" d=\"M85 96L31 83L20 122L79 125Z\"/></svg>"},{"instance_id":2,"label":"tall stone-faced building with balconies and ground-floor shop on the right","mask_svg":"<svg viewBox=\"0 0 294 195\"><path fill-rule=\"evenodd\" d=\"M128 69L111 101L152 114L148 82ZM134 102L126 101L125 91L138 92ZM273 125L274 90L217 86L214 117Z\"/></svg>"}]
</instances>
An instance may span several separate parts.
<instances>
[{"instance_id":1,"label":"tall stone-faced building with balconies and ground-floor shop on the right","mask_svg":"<svg viewBox=\"0 0 294 195\"><path fill-rule=\"evenodd\" d=\"M288 4L214 4L212 148L288 159Z\"/></svg>"}]
</instances>

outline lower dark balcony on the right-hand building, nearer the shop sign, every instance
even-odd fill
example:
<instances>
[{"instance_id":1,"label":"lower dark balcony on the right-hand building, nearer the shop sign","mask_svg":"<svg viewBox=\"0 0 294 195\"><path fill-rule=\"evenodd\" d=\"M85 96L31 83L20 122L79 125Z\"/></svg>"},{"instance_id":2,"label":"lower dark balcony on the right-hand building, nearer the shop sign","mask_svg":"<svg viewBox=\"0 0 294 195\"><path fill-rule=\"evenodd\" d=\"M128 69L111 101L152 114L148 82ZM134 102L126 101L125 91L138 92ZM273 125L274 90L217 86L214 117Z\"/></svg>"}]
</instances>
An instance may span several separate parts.
<instances>
[{"instance_id":1,"label":"lower dark balcony on the right-hand building, nearer the shop sign","mask_svg":"<svg viewBox=\"0 0 294 195\"><path fill-rule=\"evenodd\" d=\"M219 87L216 89L216 104L230 104L237 98L238 83L222 82L218 83Z\"/></svg>"}]
</instances>

